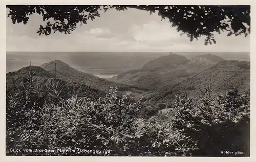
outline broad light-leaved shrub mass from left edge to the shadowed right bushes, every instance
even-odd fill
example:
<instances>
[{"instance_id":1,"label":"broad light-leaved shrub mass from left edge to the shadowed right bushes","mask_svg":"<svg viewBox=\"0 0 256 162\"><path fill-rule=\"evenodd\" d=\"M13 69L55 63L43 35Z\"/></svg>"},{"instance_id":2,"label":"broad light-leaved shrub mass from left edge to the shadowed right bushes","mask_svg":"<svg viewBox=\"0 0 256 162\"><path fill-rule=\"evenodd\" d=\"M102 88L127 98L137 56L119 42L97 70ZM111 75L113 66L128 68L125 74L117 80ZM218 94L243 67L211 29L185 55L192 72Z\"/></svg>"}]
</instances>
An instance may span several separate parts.
<instances>
[{"instance_id":1,"label":"broad light-leaved shrub mass from left edge to the shadowed right bushes","mask_svg":"<svg viewBox=\"0 0 256 162\"><path fill-rule=\"evenodd\" d=\"M111 150L98 155L170 156L182 155L176 142L179 131L172 130L168 118L142 119L141 101L129 94L117 96L116 88L104 98L75 97L41 109L40 121L30 129L19 129L7 139L13 148ZM34 122L29 119L27 123ZM10 135L10 134L9 134ZM15 136L16 135L16 136ZM13 141L15 139L15 141ZM11 145L11 144L12 145ZM7 153L22 155L24 152ZM92 155L71 153L26 153L27 155Z\"/></svg>"}]
</instances>

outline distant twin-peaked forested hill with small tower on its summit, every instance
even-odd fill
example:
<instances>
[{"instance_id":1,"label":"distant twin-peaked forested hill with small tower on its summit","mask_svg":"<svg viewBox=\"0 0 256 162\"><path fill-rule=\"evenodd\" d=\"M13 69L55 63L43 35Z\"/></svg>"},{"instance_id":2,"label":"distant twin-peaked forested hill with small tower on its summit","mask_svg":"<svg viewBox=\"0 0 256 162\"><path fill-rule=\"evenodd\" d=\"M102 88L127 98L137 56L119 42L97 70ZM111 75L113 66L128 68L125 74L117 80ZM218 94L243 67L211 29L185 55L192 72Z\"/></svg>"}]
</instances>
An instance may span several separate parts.
<instances>
[{"instance_id":1,"label":"distant twin-peaked forested hill with small tower on its summit","mask_svg":"<svg viewBox=\"0 0 256 162\"><path fill-rule=\"evenodd\" d=\"M200 73L223 60L212 54L198 55L190 60L184 56L169 54L147 62L140 70L121 73L111 80L156 90Z\"/></svg>"}]
</instances>

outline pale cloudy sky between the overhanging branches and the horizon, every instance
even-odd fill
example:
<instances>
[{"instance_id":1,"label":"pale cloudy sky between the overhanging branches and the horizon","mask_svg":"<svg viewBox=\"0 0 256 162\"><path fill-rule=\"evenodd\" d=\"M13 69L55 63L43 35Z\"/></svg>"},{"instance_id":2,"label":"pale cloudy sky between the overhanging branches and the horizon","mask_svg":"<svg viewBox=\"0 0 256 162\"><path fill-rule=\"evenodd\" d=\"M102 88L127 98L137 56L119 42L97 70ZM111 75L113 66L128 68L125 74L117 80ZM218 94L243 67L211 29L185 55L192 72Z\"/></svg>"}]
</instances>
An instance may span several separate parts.
<instances>
[{"instance_id":1,"label":"pale cloudy sky between the overhanging branches and the horizon","mask_svg":"<svg viewBox=\"0 0 256 162\"><path fill-rule=\"evenodd\" d=\"M39 36L36 32L44 23L37 14L30 17L27 25L12 24L7 18L7 51L250 51L250 36L216 34L217 43L206 46L204 37L190 42L167 19L137 9L109 10L87 25L78 25L70 35L56 32Z\"/></svg>"}]
</instances>

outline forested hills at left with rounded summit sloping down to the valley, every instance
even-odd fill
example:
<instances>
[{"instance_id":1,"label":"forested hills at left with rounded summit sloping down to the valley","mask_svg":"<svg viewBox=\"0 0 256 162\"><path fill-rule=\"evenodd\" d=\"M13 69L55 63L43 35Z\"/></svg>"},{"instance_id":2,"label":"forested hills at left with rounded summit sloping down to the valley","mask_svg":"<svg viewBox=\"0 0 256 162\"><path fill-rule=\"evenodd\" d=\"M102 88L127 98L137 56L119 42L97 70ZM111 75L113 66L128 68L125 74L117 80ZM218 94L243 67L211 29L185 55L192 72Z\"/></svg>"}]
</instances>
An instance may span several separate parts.
<instances>
[{"instance_id":1,"label":"forested hills at left with rounded summit sloping down to the valley","mask_svg":"<svg viewBox=\"0 0 256 162\"><path fill-rule=\"evenodd\" d=\"M117 90L122 93L128 91L138 96L145 92L145 90L132 85L116 83L96 77L92 74L80 72L59 60L42 64L40 67L27 66L15 72L7 73L7 90L14 91L16 87L22 88L23 80L26 78L29 71L32 71L32 73L35 72L34 78L36 78L37 85L47 85L48 79L55 77L60 78L62 82L65 82L67 91L73 95L83 95L86 92L100 95L102 93L104 94L104 92L108 91L111 87L118 87Z\"/></svg>"}]
</instances>

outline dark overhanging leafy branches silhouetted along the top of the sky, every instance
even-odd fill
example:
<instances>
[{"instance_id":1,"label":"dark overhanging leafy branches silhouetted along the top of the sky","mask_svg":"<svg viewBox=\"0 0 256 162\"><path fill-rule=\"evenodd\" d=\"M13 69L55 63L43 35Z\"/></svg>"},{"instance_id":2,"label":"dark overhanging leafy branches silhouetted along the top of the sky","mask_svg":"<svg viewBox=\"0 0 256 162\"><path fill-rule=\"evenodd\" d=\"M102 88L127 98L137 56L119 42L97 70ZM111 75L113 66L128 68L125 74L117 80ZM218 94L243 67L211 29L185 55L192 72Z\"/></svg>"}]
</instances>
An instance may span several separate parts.
<instances>
[{"instance_id":1,"label":"dark overhanging leafy branches silhouetted along the top of the sky","mask_svg":"<svg viewBox=\"0 0 256 162\"><path fill-rule=\"evenodd\" d=\"M110 6L110 5L7 5L10 9L13 24L23 22L27 24L29 15L38 13L44 21L45 27L40 26L39 35L49 35L56 31L70 34L78 24L87 24L100 16L100 10L117 11L135 8L154 13L167 18L177 31L186 34L190 41L200 36L206 36L205 45L216 43L214 32L229 31L227 36L250 34L250 6ZM117 12L118 14L118 12ZM54 21L49 21L52 18ZM247 24L247 25L246 25Z\"/></svg>"}]
</instances>

